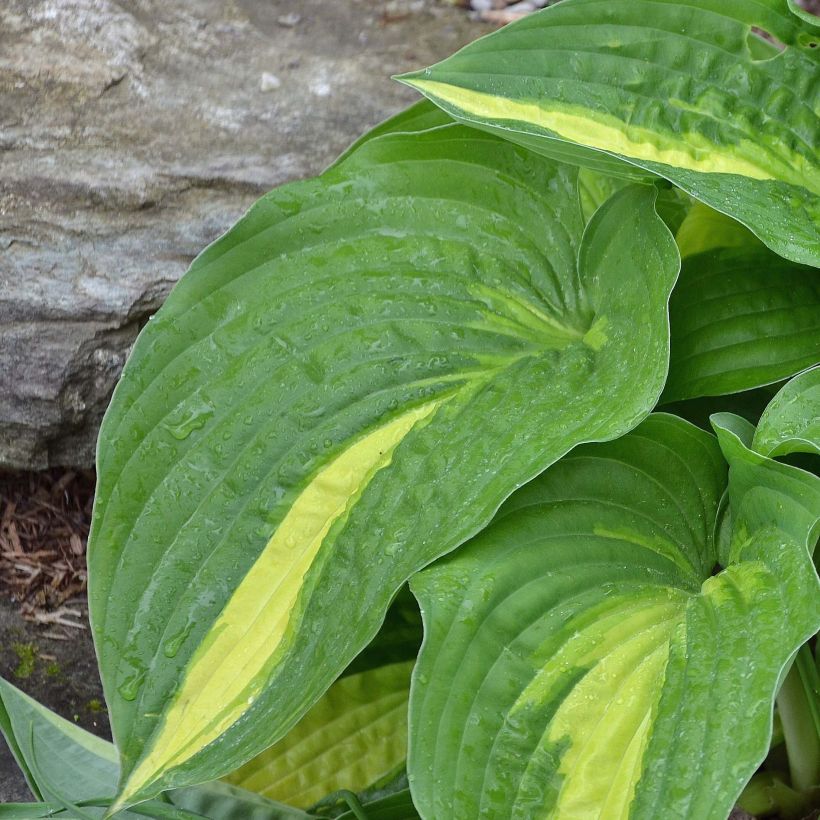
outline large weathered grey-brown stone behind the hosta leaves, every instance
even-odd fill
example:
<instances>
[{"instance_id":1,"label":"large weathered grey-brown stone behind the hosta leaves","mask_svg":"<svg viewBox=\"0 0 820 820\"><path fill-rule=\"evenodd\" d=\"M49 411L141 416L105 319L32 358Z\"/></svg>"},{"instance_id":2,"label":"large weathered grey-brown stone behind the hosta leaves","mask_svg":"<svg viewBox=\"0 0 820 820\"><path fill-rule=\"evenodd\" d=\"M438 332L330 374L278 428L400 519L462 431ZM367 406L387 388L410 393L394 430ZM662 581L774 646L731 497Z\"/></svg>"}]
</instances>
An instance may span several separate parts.
<instances>
[{"instance_id":1,"label":"large weathered grey-brown stone behind the hosta leaves","mask_svg":"<svg viewBox=\"0 0 820 820\"><path fill-rule=\"evenodd\" d=\"M434 0L3 0L0 466L91 465L193 256L485 30Z\"/></svg>"}]
</instances>

